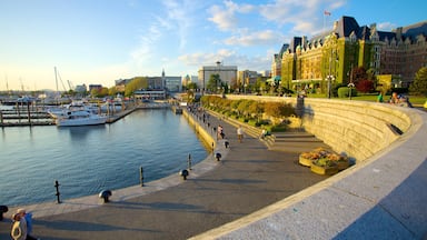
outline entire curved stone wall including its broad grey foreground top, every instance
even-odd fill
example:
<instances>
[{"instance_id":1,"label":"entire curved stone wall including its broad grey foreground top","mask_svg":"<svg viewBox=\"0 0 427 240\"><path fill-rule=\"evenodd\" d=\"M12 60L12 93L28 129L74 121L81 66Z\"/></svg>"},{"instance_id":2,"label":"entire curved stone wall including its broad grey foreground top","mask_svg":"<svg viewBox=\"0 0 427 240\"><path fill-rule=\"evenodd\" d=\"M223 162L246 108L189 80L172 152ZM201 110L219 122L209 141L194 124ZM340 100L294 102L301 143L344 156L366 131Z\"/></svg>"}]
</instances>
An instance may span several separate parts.
<instances>
[{"instance_id":1,"label":"entire curved stone wall including its broad grey foreground top","mask_svg":"<svg viewBox=\"0 0 427 240\"><path fill-rule=\"evenodd\" d=\"M247 96L227 96L248 99ZM301 124L356 164L192 239L425 239L427 114L386 103L250 97L291 102Z\"/></svg>"}]
</instances>

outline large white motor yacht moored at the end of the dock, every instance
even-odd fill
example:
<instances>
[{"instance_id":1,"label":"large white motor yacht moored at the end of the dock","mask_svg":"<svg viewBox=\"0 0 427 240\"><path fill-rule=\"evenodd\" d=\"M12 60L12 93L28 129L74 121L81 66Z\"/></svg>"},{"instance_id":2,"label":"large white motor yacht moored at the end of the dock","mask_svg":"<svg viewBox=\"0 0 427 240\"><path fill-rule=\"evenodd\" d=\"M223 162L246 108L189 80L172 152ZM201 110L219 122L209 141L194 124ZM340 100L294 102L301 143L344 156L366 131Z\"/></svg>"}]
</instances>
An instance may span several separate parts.
<instances>
[{"instance_id":1,"label":"large white motor yacht moored at the end of the dock","mask_svg":"<svg viewBox=\"0 0 427 240\"><path fill-rule=\"evenodd\" d=\"M97 114L90 110L64 110L54 122L58 127L95 126L105 124L107 119L106 114Z\"/></svg>"}]
</instances>

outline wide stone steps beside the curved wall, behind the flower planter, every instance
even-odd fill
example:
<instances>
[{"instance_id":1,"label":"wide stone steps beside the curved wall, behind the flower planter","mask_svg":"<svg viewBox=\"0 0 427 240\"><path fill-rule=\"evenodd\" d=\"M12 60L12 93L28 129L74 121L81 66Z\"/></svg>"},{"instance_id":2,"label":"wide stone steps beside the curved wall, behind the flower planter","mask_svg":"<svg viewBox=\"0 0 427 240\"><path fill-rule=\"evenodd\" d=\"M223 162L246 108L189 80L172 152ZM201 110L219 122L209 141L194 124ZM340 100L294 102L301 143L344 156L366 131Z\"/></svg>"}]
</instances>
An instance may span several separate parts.
<instances>
[{"instance_id":1,"label":"wide stone steps beside the curved wall, behind the flower planter","mask_svg":"<svg viewBox=\"0 0 427 240\"><path fill-rule=\"evenodd\" d=\"M268 138L264 139L266 146L272 151L284 152L306 152L316 148L330 149L324 141L316 138L316 136L308 133L304 130L288 131L288 132L275 132Z\"/></svg>"}]
</instances>

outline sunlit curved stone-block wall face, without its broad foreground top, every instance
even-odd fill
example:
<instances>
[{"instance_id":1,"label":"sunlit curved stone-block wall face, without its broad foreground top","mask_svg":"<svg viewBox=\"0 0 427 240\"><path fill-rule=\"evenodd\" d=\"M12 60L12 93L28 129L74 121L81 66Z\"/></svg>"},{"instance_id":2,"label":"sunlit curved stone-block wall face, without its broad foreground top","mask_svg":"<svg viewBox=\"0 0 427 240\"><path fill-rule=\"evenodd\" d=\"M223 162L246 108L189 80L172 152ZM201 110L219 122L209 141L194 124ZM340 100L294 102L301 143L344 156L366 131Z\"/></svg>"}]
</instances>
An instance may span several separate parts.
<instances>
[{"instance_id":1,"label":"sunlit curved stone-block wall face, without its broad foreground top","mask_svg":"<svg viewBox=\"0 0 427 240\"><path fill-rule=\"evenodd\" d=\"M228 99L252 99L266 102L290 102L296 98L227 96ZM360 162L389 146L410 127L410 118L401 110L385 103L364 101L299 99L302 106L302 127L334 151Z\"/></svg>"}]
</instances>

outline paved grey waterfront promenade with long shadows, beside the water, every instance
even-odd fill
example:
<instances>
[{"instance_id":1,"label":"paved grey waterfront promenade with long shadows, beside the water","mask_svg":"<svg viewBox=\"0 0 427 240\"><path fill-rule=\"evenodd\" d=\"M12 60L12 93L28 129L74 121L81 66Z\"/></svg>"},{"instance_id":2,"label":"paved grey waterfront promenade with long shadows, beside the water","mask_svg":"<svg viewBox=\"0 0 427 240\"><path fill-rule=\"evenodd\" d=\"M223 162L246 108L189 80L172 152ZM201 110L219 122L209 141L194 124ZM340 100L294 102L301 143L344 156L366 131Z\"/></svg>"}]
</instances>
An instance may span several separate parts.
<instances>
[{"instance_id":1,"label":"paved grey waterfront promenade with long shadows, beside the water","mask_svg":"<svg viewBox=\"0 0 427 240\"><path fill-rule=\"evenodd\" d=\"M218 142L212 156L193 166L187 181L180 176L112 192L103 204L98 196L24 207L34 216L33 236L47 239L187 239L277 202L326 179L298 166L298 153L269 151L236 128L221 124L230 149ZM9 239L9 216L0 222L0 239Z\"/></svg>"}]
</instances>

